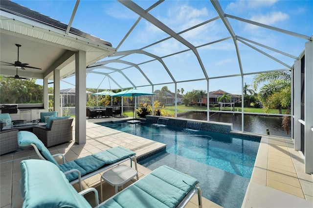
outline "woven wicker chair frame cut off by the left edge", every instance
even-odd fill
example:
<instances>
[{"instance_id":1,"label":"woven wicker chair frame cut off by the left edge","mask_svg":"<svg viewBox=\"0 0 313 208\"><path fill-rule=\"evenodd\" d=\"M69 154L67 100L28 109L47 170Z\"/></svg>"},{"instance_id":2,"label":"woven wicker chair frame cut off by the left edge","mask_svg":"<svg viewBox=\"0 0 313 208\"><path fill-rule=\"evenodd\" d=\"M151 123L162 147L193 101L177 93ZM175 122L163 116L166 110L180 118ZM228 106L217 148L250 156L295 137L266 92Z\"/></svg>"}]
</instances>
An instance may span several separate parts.
<instances>
[{"instance_id":1,"label":"woven wicker chair frame cut off by the left edge","mask_svg":"<svg viewBox=\"0 0 313 208\"><path fill-rule=\"evenodd\" d=\"M18 150L18 132L16 129L0 132L0 155Z\"/></svg>"}]
</instances>

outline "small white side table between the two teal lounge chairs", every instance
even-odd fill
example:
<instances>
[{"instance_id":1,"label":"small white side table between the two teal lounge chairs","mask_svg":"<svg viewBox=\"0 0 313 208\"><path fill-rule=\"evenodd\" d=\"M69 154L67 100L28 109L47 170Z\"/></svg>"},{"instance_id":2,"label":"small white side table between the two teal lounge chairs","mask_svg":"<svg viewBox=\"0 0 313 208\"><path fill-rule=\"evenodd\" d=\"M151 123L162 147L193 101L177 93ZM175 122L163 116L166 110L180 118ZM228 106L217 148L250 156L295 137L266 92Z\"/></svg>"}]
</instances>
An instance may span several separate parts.
<instances>
[{"instance_id":1,"label":"small white side table between the two teal lounge chairs","mask_svg":"<svg viewBox=\"0 0 313 208\"><path fill-rule=\"evenodd\" d=\"M119 165L111 170L104 172L100 178L100 189L101 189L101 202L102 198L102 180L108 182L111 186L115 186L115 194L117 193L117 187L122 186L129 182L132 178L137 175L137 171L129 166Z\"/></svg>"}]
</instances>

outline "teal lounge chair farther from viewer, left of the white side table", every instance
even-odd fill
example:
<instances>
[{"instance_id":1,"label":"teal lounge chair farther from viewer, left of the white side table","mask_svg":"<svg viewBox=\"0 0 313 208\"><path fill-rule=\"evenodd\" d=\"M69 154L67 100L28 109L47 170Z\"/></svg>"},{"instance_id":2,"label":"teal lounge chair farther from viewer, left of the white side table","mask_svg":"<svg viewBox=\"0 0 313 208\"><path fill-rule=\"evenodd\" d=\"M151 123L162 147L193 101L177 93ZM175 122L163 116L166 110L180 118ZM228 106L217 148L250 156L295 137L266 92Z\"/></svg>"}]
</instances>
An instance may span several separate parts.
<instances>
[{"instance_id":1,"label":"teal lounge chair farther from viewer, left of the white side table","mask_svg":"<svg viewBox=\"0 0 313 208\"><path fill-rule=\"evenodd\" d=\"M97 173L103 172L113 166L117 166L127 160L134 161L135 169L137 170L137 159L135 152L126 149L122 146L113 147L111 149L101 151L83 158L78 158L73 161L65 162L63 154L51 155L45 145L38 137L29 131L19 131L18 133L19 146L33 146L38 156L47 160L59 167L66 174L66 177L71 185L79 183L82 190L81 180L85 180ZM62 156L63 164L58 164L54 159L55 156ZM137 175L137 180L139 179Z\"/></svg>"}]
</instances>

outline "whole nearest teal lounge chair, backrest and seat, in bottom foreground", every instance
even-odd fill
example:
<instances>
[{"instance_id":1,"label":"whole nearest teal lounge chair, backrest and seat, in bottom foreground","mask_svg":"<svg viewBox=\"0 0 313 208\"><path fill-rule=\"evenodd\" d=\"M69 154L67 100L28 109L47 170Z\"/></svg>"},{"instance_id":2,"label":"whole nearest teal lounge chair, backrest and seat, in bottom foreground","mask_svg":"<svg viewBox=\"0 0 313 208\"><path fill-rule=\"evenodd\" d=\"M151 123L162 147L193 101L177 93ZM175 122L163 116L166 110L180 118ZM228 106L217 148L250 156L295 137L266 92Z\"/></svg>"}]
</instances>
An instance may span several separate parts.
<instances>
[{"instance_id":1,"label":"whole nearest teal lounge chair, backrest and seat, in bottom foreground","mask_svg":"<svg viewBox=\"0 0 313 208\"><path fill-rule=\"evenodd\" d=\"M184 207L195 193L198 193L199 207L202 207L199 182L168 166L156 168L100 205L95 188L77 193L66 176L52 163L24 160L21 162L21 172L23 207L91 208L83 197L90 191L94 191L96 208Z\"/></svg>"}]
</instances>

